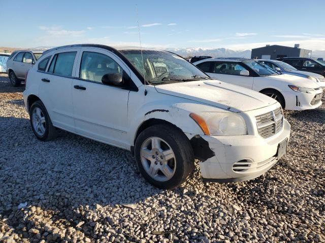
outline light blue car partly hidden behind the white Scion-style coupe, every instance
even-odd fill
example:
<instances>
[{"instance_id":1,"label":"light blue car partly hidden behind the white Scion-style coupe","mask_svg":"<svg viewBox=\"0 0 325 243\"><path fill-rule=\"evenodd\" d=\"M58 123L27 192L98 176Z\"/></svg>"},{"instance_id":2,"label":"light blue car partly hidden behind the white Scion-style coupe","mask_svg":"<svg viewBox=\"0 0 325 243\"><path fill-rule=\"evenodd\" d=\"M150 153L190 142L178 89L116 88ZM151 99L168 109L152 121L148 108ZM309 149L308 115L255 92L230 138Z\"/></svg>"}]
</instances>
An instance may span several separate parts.
<instances>
[{"instance_id":1,"label":"light blue car partly hidden behind the white Scion-style coupe","mask_svg":"<svg viewBox=\"0 0 325 243\"><path fill-rule=\"evenodd\" d=\"M299 71L295 67L278 60L259 59L258 61L283 74L290 74L290 75L309 78L313 80L315 83L317 83L317 85L319 85L323 90L325 90L325 77L323 77L320 74L313 73L313 72Z\"/></svg>"}]
</instances>

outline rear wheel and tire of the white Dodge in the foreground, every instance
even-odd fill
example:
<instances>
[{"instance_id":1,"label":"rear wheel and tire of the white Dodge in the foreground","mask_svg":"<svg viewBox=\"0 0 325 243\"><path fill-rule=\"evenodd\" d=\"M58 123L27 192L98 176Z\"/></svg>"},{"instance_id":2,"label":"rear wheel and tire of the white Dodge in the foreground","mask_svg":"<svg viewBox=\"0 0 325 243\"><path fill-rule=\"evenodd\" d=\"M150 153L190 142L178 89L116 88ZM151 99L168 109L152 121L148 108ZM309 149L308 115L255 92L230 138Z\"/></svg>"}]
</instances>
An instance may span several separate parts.
<instances>
[{"instance_id":1,"label":"rear wheel and tire of the white Dodge in the foreground","mask_svg":"<svg viewBox=\"0 0 325 243\"><path fill-rule=\"evenodd\" d=\"M49 114L41 101L32 103L29 110L30 126L35 136L41 141L49 141L56 137Z\"/></svg>"}]
</instances>

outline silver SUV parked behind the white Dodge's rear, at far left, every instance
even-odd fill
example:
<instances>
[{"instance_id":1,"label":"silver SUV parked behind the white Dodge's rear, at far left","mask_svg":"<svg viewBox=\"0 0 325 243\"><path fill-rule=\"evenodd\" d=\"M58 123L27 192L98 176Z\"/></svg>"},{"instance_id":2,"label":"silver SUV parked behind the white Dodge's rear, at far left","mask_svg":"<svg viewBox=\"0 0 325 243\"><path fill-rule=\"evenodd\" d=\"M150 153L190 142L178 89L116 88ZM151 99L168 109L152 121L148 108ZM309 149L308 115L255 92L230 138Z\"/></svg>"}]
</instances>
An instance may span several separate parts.
<instances>
[{"instance_id":1,"label":"silver SUV parked behind the white Dodge's rear, at far left","mask_svg":"<svg viewBox=\"0 0 325 243\"><path fill-rule=\"evenodd\" d=\"M7 73L14 87L20 86L25 74L42 56L42 51L19 50L13 52L7 61Z\"/></svg>"}]
</instances>

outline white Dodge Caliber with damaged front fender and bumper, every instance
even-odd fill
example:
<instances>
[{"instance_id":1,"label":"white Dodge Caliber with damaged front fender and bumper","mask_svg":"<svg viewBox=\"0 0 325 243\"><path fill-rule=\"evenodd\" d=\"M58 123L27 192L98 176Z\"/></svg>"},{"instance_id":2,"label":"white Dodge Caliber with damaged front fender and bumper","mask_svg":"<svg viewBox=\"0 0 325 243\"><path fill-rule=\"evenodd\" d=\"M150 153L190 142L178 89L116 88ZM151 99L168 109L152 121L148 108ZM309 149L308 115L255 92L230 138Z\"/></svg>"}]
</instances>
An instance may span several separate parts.
<instances>
[{"instance_id":1,"label":"white Dodge Caliber with damaged front fender and bumper","mask_svg":"<svg viewBox=\"0 0 325 243\"><path fill-rule=\"evenodd\" d=\"M212 80L166 51L54 48L29 70L23 96L38 139L59 128L131 150L159 188L183 183L194 157L206 181L258 177L286 152L290 136L277 101Z\"/></svg>"}]
</instances>

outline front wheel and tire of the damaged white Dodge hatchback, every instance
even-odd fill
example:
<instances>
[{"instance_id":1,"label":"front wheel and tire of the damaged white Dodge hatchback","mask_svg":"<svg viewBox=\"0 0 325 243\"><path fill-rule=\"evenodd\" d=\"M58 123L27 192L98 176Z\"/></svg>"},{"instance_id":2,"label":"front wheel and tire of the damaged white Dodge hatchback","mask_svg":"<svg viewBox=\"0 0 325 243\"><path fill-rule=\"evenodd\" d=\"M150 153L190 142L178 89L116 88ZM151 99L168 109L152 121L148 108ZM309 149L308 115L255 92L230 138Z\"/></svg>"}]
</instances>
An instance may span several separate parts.
<instances>
[{"instance_id":1,"label":"front wheel and tire of the damaged white Dodge hatchback","mask_svg":"<svg viewBox=\"0 0 325 243\"><path fill-rule=\"evenodd\" d=\"M194 166L189 140L171 125L154 125L142 131L135 143L135 157L143 177L161 189L180 186Z\"/></svg>"}]
</instances>

